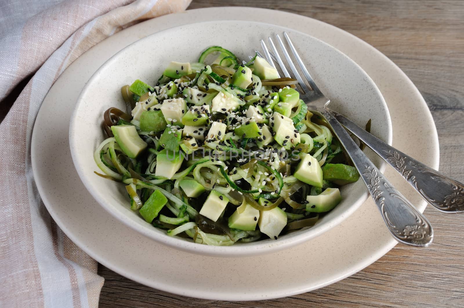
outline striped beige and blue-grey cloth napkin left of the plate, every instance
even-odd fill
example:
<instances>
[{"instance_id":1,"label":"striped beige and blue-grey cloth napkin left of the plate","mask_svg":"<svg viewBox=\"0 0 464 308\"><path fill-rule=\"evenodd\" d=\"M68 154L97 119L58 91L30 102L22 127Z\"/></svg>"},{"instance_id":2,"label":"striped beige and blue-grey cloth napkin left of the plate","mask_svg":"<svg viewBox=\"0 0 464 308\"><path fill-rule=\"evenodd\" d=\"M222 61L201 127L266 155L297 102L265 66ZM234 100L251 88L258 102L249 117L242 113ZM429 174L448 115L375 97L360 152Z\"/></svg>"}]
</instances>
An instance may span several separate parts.
<instances>
[{"instance_id":1,"label":"striped beige and blue-grey cloth napkin left of the plate","mask_svg":"<svg viewBox=\"0 0 464 308\"><path fill-rule=\"evenodd\" d=\"M52 84L82 53L189 2L0 1L0 101L33 74L0 123L0 307L98 306L103 278L97 262L57 227L37 193L30 158L34 120Z\"/></svg>"}]
</instances>

